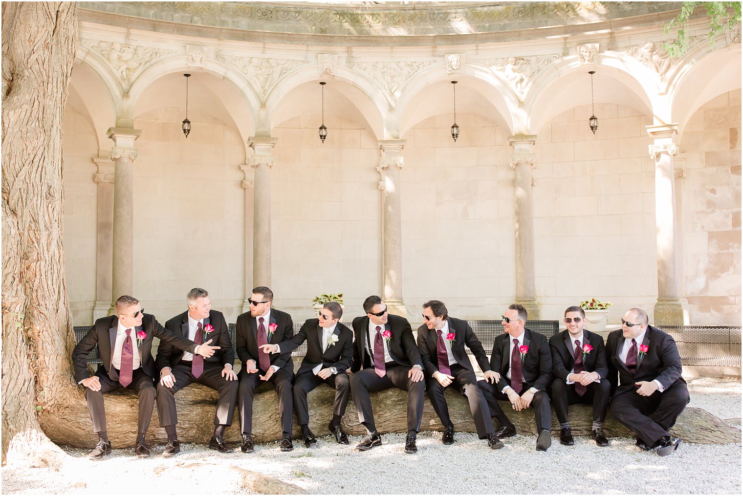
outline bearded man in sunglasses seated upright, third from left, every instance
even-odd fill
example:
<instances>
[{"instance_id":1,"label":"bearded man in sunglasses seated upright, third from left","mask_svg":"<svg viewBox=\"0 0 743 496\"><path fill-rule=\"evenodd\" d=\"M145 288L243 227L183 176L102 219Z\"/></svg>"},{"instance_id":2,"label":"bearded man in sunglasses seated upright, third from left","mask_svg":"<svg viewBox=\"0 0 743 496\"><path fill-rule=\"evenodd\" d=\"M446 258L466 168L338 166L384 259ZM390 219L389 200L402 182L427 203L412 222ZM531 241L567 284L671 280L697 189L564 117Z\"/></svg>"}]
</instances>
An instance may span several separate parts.
<instances>
[{"instance_id":1,"label":"bearded man in sunglasses seated upright, third from left","mask_svg":"<svg viewBox=\"0 0 743 496\"><path fill-rule=\"evenodd\" d=\"M294 371L291 352L268 355L259 350L261 345L277 344L291 339L293 333L291 316L271 308L273 291L265 286L254 287L248 301L250 312L245 312L237 318L235 330L237 355L242 362L238 374L240 387L237 399L242 432L241 450L243 453L253 452L253 394L259 383L270 381L279 396L282 425L279 449L291 451L294 448L291 442L293 422L291 379Z\"/></svg>"}]
</instances>

